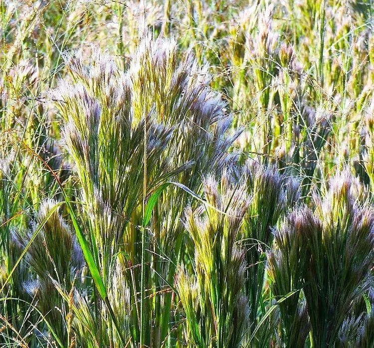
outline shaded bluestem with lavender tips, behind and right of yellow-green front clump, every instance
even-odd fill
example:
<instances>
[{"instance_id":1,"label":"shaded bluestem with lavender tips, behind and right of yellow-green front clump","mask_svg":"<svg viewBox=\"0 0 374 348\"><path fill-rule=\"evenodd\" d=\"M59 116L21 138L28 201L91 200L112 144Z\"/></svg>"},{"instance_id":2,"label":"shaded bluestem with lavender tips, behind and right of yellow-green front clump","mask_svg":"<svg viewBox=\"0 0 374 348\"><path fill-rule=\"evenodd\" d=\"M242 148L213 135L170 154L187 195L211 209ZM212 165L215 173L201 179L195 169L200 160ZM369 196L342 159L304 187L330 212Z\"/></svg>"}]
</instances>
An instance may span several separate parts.
<instances>
[{"instance_id":1,"label":"shaded bluestem with lavender tips, behind and right of yellow-green front clump","mask_svg":"<svg viewBox=\"0 0 374 348\"><path fill-rule=\"evenodd\" d=\"M295 179L279 174L275 167L259 165L255 161L236 170L235 177L238 182L245 183L247 195L251 197L238 240L245 250L244 293L249 300L249 325L253 331L263 301L266 251L271 248L273 240L271 229L287 207L297 202L300 193Z\"/></svg>"}]
</instances>

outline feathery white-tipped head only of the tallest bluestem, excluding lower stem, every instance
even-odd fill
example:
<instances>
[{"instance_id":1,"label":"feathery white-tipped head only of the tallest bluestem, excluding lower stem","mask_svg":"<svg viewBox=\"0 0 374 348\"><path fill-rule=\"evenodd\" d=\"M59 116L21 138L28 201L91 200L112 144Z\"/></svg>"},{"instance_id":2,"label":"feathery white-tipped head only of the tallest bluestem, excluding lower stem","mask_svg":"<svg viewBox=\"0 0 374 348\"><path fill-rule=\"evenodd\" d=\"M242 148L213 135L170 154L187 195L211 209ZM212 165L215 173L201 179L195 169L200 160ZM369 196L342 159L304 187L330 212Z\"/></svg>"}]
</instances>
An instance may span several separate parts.
<instances>
[{"instance_id":1,"label":"feathery white-tipped head only of the tallest bluestem, excluding lower stem","mask_svg":"<svg viewBox=\"0 0 374 348\"><path fill-rule=\"evenodd\" d=\"M192 49L180 62L177 55L174 39L153 40L146 31L126 75L131 81L135 121L153 110L157 122L173 127L167 154L176 164L195 162L186 174L193 176L183 182L194 190L191 185L200 182L196 175L200 178L212 169L220 172L241 129L226 137L232 116L225 112L227 103L221 95L209 87L208 64L200 67Z\"/></svg>"}]
</instances>

